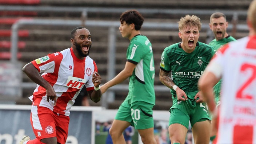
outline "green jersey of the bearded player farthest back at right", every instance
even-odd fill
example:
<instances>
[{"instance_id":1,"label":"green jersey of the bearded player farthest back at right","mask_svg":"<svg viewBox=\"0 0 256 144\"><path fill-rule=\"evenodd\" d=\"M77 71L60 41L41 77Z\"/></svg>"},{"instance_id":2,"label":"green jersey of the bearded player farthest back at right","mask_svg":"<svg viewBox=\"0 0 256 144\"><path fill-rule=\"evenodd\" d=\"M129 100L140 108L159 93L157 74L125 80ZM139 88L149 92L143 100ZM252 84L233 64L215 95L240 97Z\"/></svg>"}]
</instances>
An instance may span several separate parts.
<instances>
[{"instance_id":1,"label":"green jersey of the bearded player farthest back at right","mask_svg":"<svg viewBox=\"0 0 256 144\"><path fill-rule=\"evenodd\" d=\"M215 48L217 51L220 47L229 43L230 41L236 41L236 39L232 36L227 36L224 39L218 41L214 39L209 43L209 45L213 46L213 48ZM213 87L213 91L215 93L215 101L218 104L218 101L220 101L221 80Z\"/></svg>"}]
</instances>

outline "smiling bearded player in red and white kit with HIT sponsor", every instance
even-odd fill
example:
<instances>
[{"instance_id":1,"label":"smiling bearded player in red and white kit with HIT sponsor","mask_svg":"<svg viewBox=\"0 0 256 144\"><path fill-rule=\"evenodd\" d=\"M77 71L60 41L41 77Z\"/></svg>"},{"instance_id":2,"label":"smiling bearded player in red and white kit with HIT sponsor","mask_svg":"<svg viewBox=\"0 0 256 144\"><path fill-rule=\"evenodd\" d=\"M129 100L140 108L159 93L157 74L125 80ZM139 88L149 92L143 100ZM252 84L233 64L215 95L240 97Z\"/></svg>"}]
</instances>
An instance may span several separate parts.
<instances>
[{"instance_id":1,"label":"smiling bearded player in red and white kit with HIT sponsor","mask_svg":"<svg viewBox=\"0 0 256 144\"><path fill-rule=\"evenodd\" d=\"M69 111L85 85L89 97L100 101L101 76L89 56L92 40L88 29L71 32L71 48L33 60L23 67L37 83L32 100L31 125L36 139L24 136L20 144L64 144L68 136ZM40 75L40 73L43 73Z\"/></svg>"}]
</instances>

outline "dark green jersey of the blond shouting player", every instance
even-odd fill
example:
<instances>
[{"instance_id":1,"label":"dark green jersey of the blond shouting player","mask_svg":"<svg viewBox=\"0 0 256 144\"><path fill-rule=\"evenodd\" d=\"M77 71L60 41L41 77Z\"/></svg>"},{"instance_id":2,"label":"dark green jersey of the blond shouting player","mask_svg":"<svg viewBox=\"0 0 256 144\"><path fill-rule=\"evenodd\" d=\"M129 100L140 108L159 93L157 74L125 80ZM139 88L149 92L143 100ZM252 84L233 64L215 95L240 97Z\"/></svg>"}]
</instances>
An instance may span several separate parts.
<instances>
[{"instance_id":1,"label":"dark green jersey of the blond shouting player","mask_svg":"<svg viewBox=\"0 0 256 144\"><path fill-rule=\"evenodd\" d=\"M160 68L171 72L173 82L181 88L190 100L198 92L197 83L204 69L209 64L215 49L207 44L197 42L192 53L186 53L181 43L170 45L164 49L161 56ZM177 104L176 91L171 89L173 105Z\"/></svg>"}]
</instances>

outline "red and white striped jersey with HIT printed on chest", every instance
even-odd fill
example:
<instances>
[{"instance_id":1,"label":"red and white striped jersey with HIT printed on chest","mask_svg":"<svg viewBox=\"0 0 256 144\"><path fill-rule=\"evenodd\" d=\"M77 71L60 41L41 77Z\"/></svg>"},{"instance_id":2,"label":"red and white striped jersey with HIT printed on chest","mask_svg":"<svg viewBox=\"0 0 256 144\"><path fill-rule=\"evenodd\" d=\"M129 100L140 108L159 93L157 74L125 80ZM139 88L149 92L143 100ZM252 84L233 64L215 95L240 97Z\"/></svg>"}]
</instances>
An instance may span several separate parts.
<instances>
[{"instance_id":1,"label":"red and white striped jersey with HIT printed on chest","mask_svg":"<svg viewBox=\"0 0 256 144\"><path fill-rule=\"evenodd\" d=\"M32 64L53 87L57 95L54 101L47 101L45 88L37 85L33 96L29 97L33 105L47 107L56 113L69 116L71 106L83 86L87 91L93 90L92 74L97 72L97 66L89 56L84 60L77 59L72 48L51 53L45 57L33 60Z\"/></svg>"}]
</instances>

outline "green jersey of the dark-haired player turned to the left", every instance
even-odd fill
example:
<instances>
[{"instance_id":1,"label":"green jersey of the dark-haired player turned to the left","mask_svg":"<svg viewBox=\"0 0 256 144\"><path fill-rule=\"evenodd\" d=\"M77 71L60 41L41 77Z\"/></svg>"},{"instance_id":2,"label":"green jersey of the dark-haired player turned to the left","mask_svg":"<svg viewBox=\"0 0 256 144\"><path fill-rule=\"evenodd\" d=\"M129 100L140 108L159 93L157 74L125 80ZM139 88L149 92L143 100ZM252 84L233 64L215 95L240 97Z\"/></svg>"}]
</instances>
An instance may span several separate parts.
<instances>
[{"instance_id":1,"label":"green jersey of the dark-haired player turned to the left","mask_svg":"<svg viewBox=\"0 0 256 144\"><path fill-rule=\"evenodd\" d=\"M136 67L129 78L129 93L125 100L130 100L131 103L145 101L155 105L155 65L148 38L143 35L133 37L126 57Z\"/></svg>"}]
</instances>

